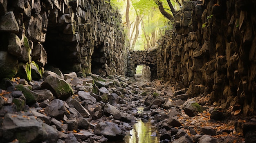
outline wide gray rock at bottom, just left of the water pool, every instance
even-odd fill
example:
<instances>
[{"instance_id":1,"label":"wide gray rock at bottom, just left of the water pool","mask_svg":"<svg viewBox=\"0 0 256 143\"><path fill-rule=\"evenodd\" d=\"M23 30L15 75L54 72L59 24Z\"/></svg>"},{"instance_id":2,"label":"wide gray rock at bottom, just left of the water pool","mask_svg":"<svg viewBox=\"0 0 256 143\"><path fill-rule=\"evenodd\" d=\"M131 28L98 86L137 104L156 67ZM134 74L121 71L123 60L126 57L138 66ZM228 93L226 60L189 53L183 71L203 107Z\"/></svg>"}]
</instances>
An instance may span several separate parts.
<instances>
[{"instance_id":1,"label":"wide gray rock at bottom, just left of the water pool","mask_svg":"<svg viewBox=\"0 0 256 143\"><path fill-rule=\"evenodd\" d=\"M116 123L100 122L94 128L94 134L103 135L108 141L121 140L126 135L124 131L119 128Z\"/></svg>"}]
</instances>

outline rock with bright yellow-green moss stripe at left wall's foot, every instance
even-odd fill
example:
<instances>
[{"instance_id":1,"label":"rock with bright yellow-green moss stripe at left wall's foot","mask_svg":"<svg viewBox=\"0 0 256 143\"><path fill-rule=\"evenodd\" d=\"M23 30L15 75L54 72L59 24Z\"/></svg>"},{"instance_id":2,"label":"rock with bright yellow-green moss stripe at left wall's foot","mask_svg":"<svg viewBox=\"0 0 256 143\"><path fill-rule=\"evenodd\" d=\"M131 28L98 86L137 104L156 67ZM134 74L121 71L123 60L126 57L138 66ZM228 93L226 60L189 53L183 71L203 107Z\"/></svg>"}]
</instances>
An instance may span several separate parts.
<instances>
[{"instance_id":1,"label":"rock with bright yellow-green moss stripe at left wall's foot","mask_svg":"<svg viewBox=\"0 0 256 143\"><path fill-rule=\"evenodd\" d=\"M16 77L20 77L21 79L26 79L27 81L31 81L31 65L29 63L19 63L18 73Z\"/></svg>"}]
</instances>

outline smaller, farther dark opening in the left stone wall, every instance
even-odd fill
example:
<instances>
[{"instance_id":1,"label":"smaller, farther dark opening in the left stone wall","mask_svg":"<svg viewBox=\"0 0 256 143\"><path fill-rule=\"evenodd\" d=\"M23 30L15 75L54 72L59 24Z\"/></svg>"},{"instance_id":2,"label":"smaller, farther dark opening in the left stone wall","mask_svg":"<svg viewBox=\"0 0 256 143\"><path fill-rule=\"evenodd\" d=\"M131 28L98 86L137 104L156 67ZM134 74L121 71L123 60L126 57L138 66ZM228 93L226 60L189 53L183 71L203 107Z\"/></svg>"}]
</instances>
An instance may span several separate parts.
<instances>
[{"instance_id":1,"label":"smaller, farther dark opening in the left stone wall","mask_svg":"<svg viewBox=\"0 0 256 143\"><path fill-rule=\"evenodd\" d=\"M105 53L106 46L98 45L94 47L92 53L92 73L97 75L107 75L107 68L110 64L109 54Z\"/></svg>"}]
</instances>

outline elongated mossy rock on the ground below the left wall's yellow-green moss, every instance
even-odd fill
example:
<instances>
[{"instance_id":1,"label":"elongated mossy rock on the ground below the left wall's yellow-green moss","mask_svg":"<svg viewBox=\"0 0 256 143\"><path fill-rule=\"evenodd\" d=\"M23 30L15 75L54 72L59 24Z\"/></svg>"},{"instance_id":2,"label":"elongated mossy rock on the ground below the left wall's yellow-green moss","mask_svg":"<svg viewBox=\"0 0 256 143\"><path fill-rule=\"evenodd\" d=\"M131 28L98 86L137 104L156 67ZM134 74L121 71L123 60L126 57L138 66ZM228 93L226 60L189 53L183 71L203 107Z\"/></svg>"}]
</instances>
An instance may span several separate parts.
<instances>
[{"instance_id":1,"label":"elongated mossy rock on the ground below the left wall's yellow-green moss","mask_svg":"<svg viewBox=\"0 0 256 143\"><path fill-rule=\"evenodd\" d=\"M38 94L36 92L30 90L26 86L23 86L22 84L16 85L15 88L16 88L16 90L22 91L23 95L26 97L26 103L28 105L36 103L36 101L38 99Z\"/></svg>"}]
</instances>

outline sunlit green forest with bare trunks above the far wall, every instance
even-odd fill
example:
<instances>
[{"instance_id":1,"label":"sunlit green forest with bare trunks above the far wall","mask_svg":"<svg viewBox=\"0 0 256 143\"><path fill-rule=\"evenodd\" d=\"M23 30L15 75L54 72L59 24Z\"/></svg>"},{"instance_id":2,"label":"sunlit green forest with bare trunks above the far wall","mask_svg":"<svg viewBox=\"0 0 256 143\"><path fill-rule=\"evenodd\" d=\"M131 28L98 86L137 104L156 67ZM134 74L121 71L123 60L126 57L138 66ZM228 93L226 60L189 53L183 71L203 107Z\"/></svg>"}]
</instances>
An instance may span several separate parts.
<instances>
[{"instance_id":1,"label":"sunlit green forest with bare trunks above the far wall","mask_svg":"<svg viewBox=\"0 0 256 143\"><path fill-rule=\"evenodd\" d=\"M166 30L173 29L173 13L183 0L110 0L122 15L130 50L155 48Z\"/></svg>"}]
</instances>

